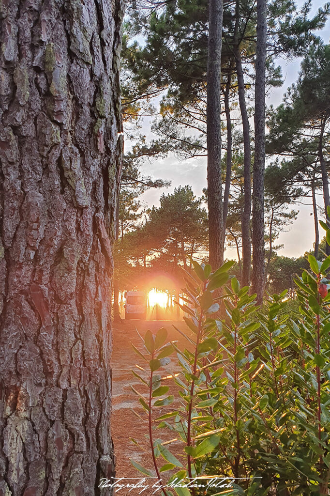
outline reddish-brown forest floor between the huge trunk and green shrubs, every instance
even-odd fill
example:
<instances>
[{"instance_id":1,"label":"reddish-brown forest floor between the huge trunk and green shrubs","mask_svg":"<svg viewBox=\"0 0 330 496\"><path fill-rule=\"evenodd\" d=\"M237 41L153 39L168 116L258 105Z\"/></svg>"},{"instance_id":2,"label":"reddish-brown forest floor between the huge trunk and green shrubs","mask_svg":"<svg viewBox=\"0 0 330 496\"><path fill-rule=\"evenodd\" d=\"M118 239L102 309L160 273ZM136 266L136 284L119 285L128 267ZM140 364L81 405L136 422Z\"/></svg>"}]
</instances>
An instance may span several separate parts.
<instances>
[{"instance_id":1,"label":"reddish-brown forest floor between the huge trunk and green shrubs","mask_svg":"<svg viewBox=\"0 0 330 496\"><path fill-rule=\"evenodd\" d=\"M134 377L131 372L131 369L137 371L135 364L144 367L142 358L134 352L130 344L133 343L141 352L143 352L143 343L135 328L137 328L139 333L144 336L147 329L150 329L153 334L156 334L160 327L165 327L168 332L168 338L171 340L177 340L177 346L180 349L187 348L187 345L189 348L188 341L174 329L172 324L178 327L181 331L185 332L188 336L191 336L191 331L187 328L183 321L129 320L123 321L119 324L113 324L113 351L111 359L113 391L111 433L116 456L117 478L143 477L143 474L138 472L130 464L130 458L144 467L153 470L148 437L148 423L142 422L131 410L133 408L139 415L146 418L146 413L138 401L138 396L134 394L130 388L131 384L140 392L146 392L146 388L143 389L143 384L141 384L139 379ZM166 370L160 369L160 371L158 371L158 373L162 374L162 377L167 376L168 371L171 374L179 371L176 354L173 354L173 357L170 358L171 363L166 366ZM167 394L173 393L173 391L176 390L176 386L172 379L165 379L165 381L168 381L168 385L170 386ZM162 381L163 385L165 385L165 381ZM172 386L170 382L172 382ZM164 414L166 409L167 407L159 408L157 411L157 416ZM163 429L160 431L153 431L154 439L162 437L162 440L170 440L173 437L176 437L175 434L175 432L166 432ZM140 447L134 444L130 438L134 438L146 451L143 451ZM181 450L182 447L179 449L178 442L171 444L171 451L173 454L177 455ZM166 463L165 460L161 458L159 459L159 466L163 465L162 461L164 464ZM140 490L138 489L134 489L131 493L128 493L127 490L120 490L118 491L118 495L126 496L126 494L131 494L135 496L139 494L139 491ZM142 494L147 496L152 494L152 492L144 491ZM156 495L158 494L161 495L161 492L159 491L156 493Z\"/></svg>"}]
</instances>

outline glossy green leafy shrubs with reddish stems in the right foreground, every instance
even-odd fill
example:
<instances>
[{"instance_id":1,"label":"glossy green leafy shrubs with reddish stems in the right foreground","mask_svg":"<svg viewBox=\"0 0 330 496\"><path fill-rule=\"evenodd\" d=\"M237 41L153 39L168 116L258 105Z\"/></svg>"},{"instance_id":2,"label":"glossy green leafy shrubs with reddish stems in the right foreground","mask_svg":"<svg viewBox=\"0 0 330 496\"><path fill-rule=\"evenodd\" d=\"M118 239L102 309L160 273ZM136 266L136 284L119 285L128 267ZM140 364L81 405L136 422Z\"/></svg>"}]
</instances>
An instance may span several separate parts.
<instances>
[{"instance_id":1,"label":"glossy green leafy shrubs with reddish stems in the right foreground","mask_svg":"<svg viewBox=\"0 0 330 496\"><path fill-rule=\"evenodd\" d=\"M330 257L308 259L308 269L295 280L298 311L290 308L286 291L269 295L258 309L255 295L235 277L224 286L231 263L211 272L194 262L185 276L187 349L167 343L164 329L156 336L147 331L143 356L149 368L139 370L149 398L136 393L149 422L158 477L177 468L186 483L202 477L198 484L208 484L212 476L231 481L223 493L197 484L177 489L178 495L329 494ZM181 370L173 378L176 398L155 375L166 367L161 356L167 347ZM153 399L160 395L164 399ZM155 418L159 407L162 415ZM168 442L153 441L156 428L176 432L181 455L173 456ZM162 468L160 456L167 462ZM166 486L163 493L171 494Z\"/></svg>"}]
</instances>

